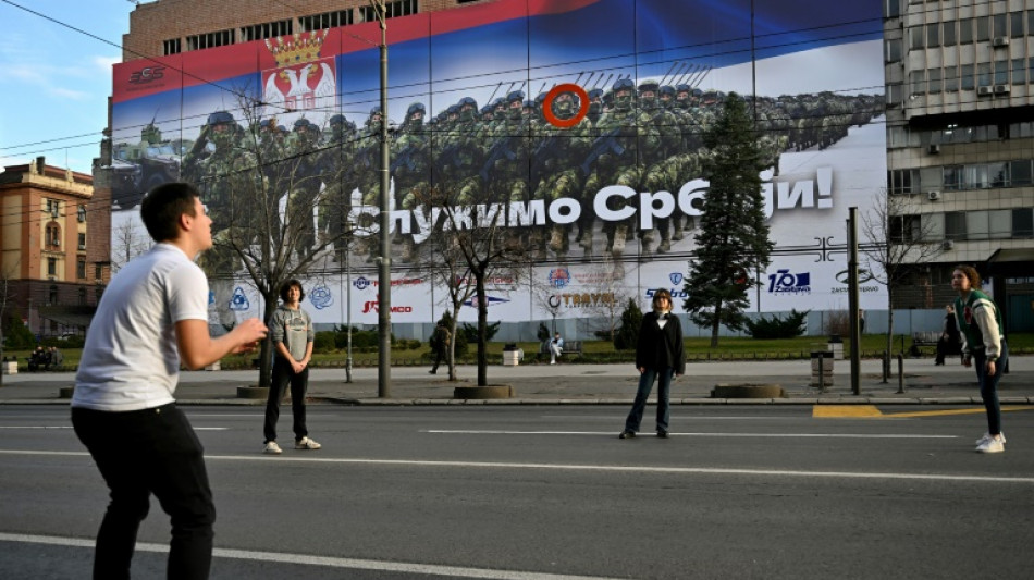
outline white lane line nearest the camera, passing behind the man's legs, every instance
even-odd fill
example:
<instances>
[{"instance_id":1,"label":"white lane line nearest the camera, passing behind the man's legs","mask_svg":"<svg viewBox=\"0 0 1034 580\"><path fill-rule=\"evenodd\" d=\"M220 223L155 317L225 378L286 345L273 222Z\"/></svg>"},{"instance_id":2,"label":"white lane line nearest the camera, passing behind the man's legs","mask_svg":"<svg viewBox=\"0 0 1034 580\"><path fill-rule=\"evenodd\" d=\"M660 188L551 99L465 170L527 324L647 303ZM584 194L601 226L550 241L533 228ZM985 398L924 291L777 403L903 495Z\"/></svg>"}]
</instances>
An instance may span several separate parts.
<instances>
[{"instance_id":1,"label":"white lane line nearest the camera, passing behind the man's legs","mask_svg":"<svg viewBox=\"0 0 1034 580\"><path fill-rule=\"evenodd\" d=\"M79 538L60 538L53 535L30 535L0 532L0 542L26 544L47 544L71 547L94 547L93 540ZM138 542L138 552L168 553L169 546ZM465 568L459 566L439 566L433 564L413 564L404 562L380 562L358 558L333 558L327 556L306 556L299 554L279 554L274 552L255 552L250 550L230 550L217 547L212 551L217 558L234 558L253 562L272 562L276 564L300 564L352 570L376 570L385 572L414 573L420 576L451 576L459 578L487 578L490 580L610 580L599 576L568 576L556 573L522 572L517 570L492 570L488 568Z\"/></svg>"}]
</instances>

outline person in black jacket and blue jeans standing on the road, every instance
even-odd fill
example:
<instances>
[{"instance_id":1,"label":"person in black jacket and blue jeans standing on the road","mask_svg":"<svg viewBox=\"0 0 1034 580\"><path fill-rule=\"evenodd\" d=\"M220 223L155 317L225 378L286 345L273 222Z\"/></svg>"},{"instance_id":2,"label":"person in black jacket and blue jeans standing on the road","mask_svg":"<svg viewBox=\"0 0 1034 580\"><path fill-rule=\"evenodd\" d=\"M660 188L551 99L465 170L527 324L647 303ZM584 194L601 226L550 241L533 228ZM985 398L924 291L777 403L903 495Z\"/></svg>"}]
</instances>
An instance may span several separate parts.
<instances>
[{"instance_id":1,"label":"person in black jacket and blue jeans standing on the road","mask_svg":"<svg viewBox=\"0 0 1034 580\"><path fill-rule=\"evenodd\" d=\"M682 346L682 324L672 313L672 294L661 288L653 295L653 311L642 317L639 344L636 346L636 368L639 369L639 392L632 410L625 419L619 439L636 436L647 408L647 397L657 381L657 436L668 436L668 404L672 380L686 373L686 349Z\"/></svg>"}]
</instances>

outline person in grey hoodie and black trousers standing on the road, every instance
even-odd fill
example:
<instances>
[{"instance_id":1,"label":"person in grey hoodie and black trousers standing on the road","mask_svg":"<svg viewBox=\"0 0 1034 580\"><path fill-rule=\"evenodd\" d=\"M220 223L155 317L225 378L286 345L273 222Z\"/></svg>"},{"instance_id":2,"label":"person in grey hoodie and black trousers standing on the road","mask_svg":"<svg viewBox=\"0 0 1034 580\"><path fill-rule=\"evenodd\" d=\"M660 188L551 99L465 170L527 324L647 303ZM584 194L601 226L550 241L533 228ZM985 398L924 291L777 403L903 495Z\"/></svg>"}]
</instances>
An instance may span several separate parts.
<instances>
[{"instance_id":1,"label":"person in grey hoodie and black trousers standing on the road","mask_svg":"<svg viewBox=\"0 0 1034 580\"><path fill-rule=\"evenodd\" d=\"M280 402L284 387L291 383L291 411L294 417L294 448L319 449L319 443L309 439L305 424L305 392L309 384L309 361L312 359L312 342L316 331L312 318L301 309L305 291L301 282L288 280L280 287L283 304L273 312L270 321L270 337L273 341L273 377L266 400L264 453L280 455L283 449L276 444L276 421L280 419Z\"/></svg>"}]
</instances>

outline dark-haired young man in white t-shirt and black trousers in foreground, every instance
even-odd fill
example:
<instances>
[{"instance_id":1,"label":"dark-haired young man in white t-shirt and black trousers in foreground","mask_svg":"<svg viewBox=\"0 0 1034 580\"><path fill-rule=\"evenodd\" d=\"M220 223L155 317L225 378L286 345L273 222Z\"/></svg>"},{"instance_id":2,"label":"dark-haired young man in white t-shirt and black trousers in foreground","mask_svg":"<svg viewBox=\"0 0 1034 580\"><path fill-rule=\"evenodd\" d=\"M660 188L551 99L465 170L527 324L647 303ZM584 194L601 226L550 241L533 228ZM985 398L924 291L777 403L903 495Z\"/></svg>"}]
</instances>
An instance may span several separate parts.
<instances>
[{"instance_id":1,"label":"dark-haired young man in white t-shirt and black trousers in foreground","mask_svg":"<svg viewBox=\"0 0 1034 580\"><path fill-rule=\"evenodd\" d=\"M208 280L194 258L212 247L197 189L152 189L140 218L157 244L111 280L86 335L72 424L111 490L97 533L94 578L128 578L140 522L155 494L172 520L168 577L208 578L216 508L204 449L176 408L181 362L199 369L266 337L258 319L212 338Z\"/></svg>"}]
</instances>

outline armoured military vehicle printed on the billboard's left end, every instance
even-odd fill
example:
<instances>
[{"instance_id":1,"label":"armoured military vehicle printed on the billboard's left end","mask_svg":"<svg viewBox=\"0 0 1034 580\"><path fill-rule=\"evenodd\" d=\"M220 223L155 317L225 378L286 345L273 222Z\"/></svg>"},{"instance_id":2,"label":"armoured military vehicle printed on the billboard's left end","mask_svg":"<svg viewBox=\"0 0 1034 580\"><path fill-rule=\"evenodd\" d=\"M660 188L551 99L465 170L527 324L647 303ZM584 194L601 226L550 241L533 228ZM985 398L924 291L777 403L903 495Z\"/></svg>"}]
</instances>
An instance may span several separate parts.
<instances>
[{"instance_id":1,"label":"armoured military vehicle printed on the billboard's left end","mask_svg":"<svg viewBox=\"0 0 1034 580\"><path fill-rule=\"evenodd\" d=\"M140 129L140 143L114 144L111 152L113 203L119 209L132 209L156 185L177 181L183 155L192 145L190 140L162 139L161 129L153 121Z\"/></svg>"}]
</instances>

